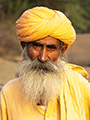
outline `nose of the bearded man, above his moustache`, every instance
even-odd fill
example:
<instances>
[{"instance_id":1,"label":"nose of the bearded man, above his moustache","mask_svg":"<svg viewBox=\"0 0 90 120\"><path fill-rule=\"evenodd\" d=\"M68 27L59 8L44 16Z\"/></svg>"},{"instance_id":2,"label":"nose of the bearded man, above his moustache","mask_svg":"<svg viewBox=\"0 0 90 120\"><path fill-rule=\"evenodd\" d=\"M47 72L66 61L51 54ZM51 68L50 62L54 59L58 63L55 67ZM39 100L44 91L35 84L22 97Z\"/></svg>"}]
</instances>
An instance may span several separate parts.
<instances>
[{"instance_id":1,"label":"nose of the bearded man, above his moustache","mask_svg":"<svg viewBox=\"0 0 90 120\"><path fill-rule=\"evenodd\" d=\"M47 50L46 50L45 47L44 47L42 50L40 50L38 59L39 59L41 62L45 62L45 61L48 60Z\"/></svg>"}]
</instances>

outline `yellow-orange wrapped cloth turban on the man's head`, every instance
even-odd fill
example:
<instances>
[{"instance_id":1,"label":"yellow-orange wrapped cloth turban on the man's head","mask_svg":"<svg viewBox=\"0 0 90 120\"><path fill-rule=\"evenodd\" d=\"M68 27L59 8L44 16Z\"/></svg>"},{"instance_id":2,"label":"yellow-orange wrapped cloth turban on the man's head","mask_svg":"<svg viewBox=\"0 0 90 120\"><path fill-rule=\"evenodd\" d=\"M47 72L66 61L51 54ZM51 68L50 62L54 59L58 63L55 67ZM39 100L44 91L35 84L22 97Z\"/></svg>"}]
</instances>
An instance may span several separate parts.
<instances>
[{"instance_id":1,"label":"yellow-orange wrapped cloth turban on the man's head","mask_svg":"<svg viewBox=\"0 0 90 120\"><path fill-rule=\"evenodd\" d=\"M34 7L25 11L16 21L16 33L22 42L51 36L64 42L67 47L76 37L70 20L62 12L47 7Z\"/></svg>"}]
</instances>

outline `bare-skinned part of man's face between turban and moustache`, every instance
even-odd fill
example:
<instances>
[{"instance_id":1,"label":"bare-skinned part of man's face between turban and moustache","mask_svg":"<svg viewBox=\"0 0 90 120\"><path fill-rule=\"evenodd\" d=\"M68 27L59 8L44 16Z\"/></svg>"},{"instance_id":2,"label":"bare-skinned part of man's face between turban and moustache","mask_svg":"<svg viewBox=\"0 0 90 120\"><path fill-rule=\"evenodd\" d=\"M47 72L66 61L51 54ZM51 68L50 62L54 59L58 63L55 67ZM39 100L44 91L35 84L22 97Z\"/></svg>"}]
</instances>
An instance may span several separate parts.
<instances>
[{"instance_id":1,"label":"bare-skinned part of man's face between turban and moustache","mask_svg":"<svg viewBox=\"0 0 90 120\"><path fill-rule=\"evenodd\" d=\"M50 60L54 63L59 57L60 41L48 36L40 40L30 42L27 46L27 50L32 61L38 58L41 62Z\"/></svg>"}]
</instances>

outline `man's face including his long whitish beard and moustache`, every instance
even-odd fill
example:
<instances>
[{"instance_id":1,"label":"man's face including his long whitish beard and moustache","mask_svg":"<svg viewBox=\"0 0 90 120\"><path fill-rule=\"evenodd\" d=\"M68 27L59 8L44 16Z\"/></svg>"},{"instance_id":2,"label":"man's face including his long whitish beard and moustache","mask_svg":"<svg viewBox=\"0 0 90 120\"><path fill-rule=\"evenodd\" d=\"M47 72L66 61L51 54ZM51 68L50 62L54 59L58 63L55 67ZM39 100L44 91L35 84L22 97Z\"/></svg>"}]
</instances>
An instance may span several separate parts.
<instances>
[{"instance_id":1,"label":"man's face including his long whitish beard and moustache","mask_svg":"<svg viewBox=\"0 0 90 120\"><path fill-rule=\"evenodd\" d=\"M62 46L62 54L66 48L66 45ZM60 73L64 72L59 54L60 41L52 37L45 37L25 46L18 73L28 100L47 105L54 95L58 96Z\"/></svg>"}]
</instances>

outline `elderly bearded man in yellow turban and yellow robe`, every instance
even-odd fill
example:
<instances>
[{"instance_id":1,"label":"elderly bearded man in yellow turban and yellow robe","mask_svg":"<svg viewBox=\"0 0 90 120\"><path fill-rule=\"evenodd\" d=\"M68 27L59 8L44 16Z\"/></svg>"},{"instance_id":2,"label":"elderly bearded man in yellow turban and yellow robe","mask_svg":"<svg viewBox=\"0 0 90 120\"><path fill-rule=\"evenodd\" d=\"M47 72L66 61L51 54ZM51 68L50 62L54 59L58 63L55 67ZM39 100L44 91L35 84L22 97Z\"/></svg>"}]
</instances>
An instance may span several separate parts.
<instances>
[{"instance_id":1,"label":"elderly bearded man in yellow turban and yellow robe","mask_svg":"<svg viewBox=\"0 0 90 120\"><path fill-rule=\"evenodd\" d=\"M76 34L70 20L46 7L25 11L16 22L23 47L19 78L0 95L0 120L90 120L87 72L61 60Z\"/></svg>"}]
</instances>

